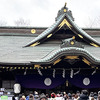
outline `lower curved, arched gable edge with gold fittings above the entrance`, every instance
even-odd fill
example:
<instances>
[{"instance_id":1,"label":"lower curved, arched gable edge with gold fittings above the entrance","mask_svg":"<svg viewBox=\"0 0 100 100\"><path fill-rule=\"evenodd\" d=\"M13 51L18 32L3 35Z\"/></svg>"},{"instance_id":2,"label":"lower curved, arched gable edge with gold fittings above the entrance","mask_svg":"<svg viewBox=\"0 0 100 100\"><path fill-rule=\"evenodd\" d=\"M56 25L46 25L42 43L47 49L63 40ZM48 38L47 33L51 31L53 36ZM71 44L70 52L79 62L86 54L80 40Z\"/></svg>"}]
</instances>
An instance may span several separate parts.
<instances>
[{"instance_id":1,"label":"lower curved, arched gable edge with gold fittings above the entrance","mask_svg":"<svg viewBox=\"0 0 100 100\"><path fill-rule=\"evenodd\" d=\"M51 55L43 58L31 61L32 64L57 64L62 59L62 57L65 57L64 59L79 59L78 57L82 57L82 61L85 62L87 65L100 65L100 59L95 58L92 54L90 54L87 50L83 48L77 48L77 47L67 47L67 48L61 48L57 50L56 52L52 53Z\"/></svg>"}]
</instances>

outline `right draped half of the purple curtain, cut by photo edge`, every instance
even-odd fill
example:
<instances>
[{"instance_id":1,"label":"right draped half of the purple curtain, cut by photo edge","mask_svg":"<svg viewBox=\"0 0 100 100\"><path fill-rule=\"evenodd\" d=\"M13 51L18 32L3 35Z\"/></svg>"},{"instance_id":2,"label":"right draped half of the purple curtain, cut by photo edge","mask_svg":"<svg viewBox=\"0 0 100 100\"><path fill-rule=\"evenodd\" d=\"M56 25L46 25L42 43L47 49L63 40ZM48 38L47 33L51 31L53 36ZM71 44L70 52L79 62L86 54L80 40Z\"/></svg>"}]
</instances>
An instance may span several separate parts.
<instances>
[{"instance_id":1,"label":"right draped half of the purple curtain, cut by photo edge","mask_svg":"<svg viewBox=\"0 0 100 100\"><path fill-rule=\"evenodd\" d=\"M84 78L89 78L90 84L89 85L84 85L83 84L83 79ZM77 87L80 88L100 88L100 74L94 74L94 75L75 75L72 79L68 79L69 82Z\"/></svg>"}]
</instances>

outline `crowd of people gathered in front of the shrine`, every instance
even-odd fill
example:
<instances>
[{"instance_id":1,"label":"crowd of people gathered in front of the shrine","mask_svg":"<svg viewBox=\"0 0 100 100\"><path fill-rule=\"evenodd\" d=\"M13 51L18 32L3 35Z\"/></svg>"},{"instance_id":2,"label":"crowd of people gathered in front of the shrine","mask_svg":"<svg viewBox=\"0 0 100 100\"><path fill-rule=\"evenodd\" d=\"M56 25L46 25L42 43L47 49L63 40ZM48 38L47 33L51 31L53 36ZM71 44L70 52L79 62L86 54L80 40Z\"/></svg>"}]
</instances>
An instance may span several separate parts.
<instances>
[{"instance_id":1,"label":"crowd of people gathered in front of the shrine","mask_svg":"<svg viewBox=\"0 0 100 100\"><path fill-rule=\"evenodd\" d=\"M82 90L81 93L77 91L76 93L66 93L66 92L59 92L59 93L51 93L51 94L29 94L25 96L24 94L19 97L18 100L100 100L100 91L90 92L88 93L87 90Z\"/></svg>"}]
</instances>

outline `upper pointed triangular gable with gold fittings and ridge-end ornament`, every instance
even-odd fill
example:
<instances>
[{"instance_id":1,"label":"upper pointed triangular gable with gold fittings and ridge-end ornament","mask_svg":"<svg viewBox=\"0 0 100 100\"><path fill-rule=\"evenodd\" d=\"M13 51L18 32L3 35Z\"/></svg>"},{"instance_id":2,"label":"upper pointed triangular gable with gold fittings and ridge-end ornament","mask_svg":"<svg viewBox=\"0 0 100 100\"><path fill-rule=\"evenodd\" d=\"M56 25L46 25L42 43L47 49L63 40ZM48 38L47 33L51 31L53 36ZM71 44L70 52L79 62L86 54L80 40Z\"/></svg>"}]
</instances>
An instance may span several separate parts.
<instances>
[{"instance_id":1,"label":"upper pointed triangular gable with gold fittings and ridge-end ornament","mask_svg":"<svg viewBox=\"0 0 100 100\"><path fill-rule=\"evenodd\" d=\"M33 41L28 43L25 47L28 46L36 46L43 43L48 38L51 38L53 35L57 33L57 31L64 29L67 33L67 29L71 30L74 36L79 37L80 39L84 40L88 44L99 47L100 43L98 43L95 39L93 39L90 35L88 35L85 31L79 28L72 16L72 13L66 6L64 6L59 12L58 16L56 17L56 22L42 32L38 37L36 37Z\"/></svg>"}]
</instances>

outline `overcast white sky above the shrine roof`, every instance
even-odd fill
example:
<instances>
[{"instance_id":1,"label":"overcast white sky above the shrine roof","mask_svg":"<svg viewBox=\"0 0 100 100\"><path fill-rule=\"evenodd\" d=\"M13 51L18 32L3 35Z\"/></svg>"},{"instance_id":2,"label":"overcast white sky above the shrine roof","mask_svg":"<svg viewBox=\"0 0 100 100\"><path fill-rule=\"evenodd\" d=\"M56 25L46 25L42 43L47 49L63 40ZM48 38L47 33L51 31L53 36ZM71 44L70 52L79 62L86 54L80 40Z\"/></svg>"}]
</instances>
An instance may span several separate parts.
<instances>
[{"instance_id":1,"label":"overcast white sky above the shrine roof","mask_svg":"<svg viewBox=\"0 0 100 100\"><path fill-rule=\"evenodd\" d=\"M79 27L100 28L100 0L0 0L0 23L15 26L24 19L32 27L49 27L65 2Z\"/></svg>"}]
</instances>

